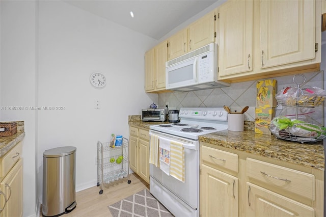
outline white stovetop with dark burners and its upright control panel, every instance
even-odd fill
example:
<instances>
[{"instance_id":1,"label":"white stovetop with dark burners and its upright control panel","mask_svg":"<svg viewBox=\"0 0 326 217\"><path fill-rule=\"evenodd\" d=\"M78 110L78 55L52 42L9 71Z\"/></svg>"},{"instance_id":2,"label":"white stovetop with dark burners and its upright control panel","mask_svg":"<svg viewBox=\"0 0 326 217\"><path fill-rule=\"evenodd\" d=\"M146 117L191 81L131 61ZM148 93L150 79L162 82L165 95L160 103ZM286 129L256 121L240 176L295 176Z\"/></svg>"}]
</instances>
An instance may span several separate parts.
<instances>
[{"instance_id":1,"label":"white stovetop with dark burners and its upright control panel","mask_svg":"<svg viewBox=\"0 0 326 217\"><path fill-rule=\"evenodd\" d=\"M151 125L150 129L198 140L199 135L228 128L227 112L221 107L180 108L179 123Z\"/></svg>"}]
</instances>

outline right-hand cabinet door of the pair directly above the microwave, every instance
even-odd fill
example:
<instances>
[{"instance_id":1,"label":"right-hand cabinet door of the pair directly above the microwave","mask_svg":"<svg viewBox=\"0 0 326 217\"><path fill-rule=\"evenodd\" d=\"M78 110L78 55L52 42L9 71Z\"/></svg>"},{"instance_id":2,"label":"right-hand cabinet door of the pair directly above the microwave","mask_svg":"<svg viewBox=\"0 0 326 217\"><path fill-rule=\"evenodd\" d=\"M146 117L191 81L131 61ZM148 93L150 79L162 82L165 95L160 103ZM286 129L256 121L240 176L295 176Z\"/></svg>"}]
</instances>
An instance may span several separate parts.
<instances>
[{"instance_id":1,"label":"right-hand cabinet door of the pair directly above the microwave","mask_svg":"<svg viewBox=\"0 0 326 217\"><path fill-rule=\"evenodd\" d=\"M215 42L215 11L189 25L188 31L188 52Z\"/></svg>"}]
</instances>

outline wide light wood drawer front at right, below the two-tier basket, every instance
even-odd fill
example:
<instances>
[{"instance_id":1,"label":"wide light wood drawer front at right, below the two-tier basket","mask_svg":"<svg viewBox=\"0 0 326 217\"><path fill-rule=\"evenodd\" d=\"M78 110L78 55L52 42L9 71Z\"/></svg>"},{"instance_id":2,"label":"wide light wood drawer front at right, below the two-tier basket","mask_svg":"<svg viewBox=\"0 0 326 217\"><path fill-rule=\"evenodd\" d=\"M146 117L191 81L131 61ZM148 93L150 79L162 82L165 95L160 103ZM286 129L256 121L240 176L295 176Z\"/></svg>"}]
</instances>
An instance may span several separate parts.
<instances>
[{"instance_id":1,"label":"wide light wood drawer front at right, below the two-tier basket","mask_svg":"<svg viewBox=\"0 0 326 217\"><path fill-rule=\"evenodd\" d=\"M247 176L251 182L269 186L279 194L296 194L315 200L315 176L312 174L247 158Z\"/></svg>"}]
</instances>

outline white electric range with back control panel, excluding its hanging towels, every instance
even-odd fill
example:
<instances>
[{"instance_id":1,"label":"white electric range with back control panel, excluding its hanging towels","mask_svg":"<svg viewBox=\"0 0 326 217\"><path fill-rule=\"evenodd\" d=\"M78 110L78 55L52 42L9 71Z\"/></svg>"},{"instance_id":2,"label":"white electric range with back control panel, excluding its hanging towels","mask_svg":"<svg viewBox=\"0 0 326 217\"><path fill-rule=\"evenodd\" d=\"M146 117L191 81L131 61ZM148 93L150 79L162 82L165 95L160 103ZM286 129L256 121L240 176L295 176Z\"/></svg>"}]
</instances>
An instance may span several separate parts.
<instances>
[{"instance_id":1,"label":"white electric range with back control panel, excluding its hanging towels","mask_svg":"<svg viewBox=\"0 0 326 217\"><path fill-rule=\"evenodd\" d=\"M203 134L225 130L223 107L183 107L179 123L150 126L150 137L183 144L184 182L150 164L150 193L175 216L199 216L199 141Z\"/></svg>"}]
</instances>

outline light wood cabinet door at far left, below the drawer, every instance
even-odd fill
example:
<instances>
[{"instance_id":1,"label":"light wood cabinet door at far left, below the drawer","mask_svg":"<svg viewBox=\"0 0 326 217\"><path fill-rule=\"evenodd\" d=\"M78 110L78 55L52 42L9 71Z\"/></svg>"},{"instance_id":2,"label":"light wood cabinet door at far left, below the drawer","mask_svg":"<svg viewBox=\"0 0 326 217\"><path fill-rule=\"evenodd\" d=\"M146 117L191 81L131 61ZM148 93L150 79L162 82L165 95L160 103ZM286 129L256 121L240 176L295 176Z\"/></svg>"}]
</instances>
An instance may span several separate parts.
<instances>
[{"instance_id":1,"label":"light wood cabinet door at far left, below the drawer","mask_svg":"<svg viewBox=\"0 0 326 217\"><path fill-rule=\"evenodd\" d=\"M8 202L1 196L1 207L4 210L1 216L22 216L22 159L5 176L0 184L1 191L6 195Z\"/></svg>"}]
</instances>

